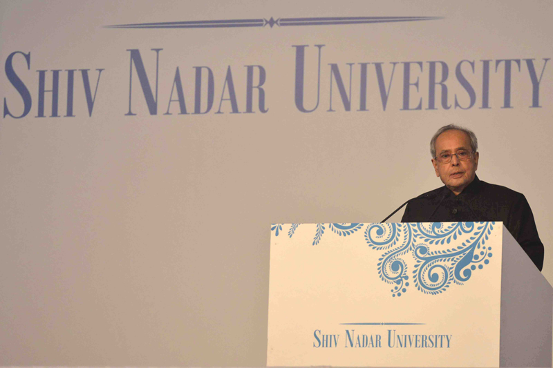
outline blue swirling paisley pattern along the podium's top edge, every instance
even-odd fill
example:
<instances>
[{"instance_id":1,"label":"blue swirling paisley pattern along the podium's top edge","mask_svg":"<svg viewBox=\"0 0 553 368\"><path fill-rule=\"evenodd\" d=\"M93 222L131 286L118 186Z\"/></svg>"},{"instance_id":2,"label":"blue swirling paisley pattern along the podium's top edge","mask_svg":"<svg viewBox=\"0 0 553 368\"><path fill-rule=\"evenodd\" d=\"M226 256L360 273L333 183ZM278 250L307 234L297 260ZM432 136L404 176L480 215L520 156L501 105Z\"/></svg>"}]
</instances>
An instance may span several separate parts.
<instances>
[{"instance_id":1,"label":"blue swirling paisley pattern along the podium's top edge","mask_svg":"<svg viewBox=\"0 0 553 368\"><path fill-rule=\"evenodd\" d=\"M362 233L369 248L381 252L377 272L383 282L391 285L393 297L406 293L411 283L422 293L437 295L447 291L451 284L462 285L471 278L473 271L489 264L493 253L486 242L494 225L495 222L382 223L367 224ZM290 226L290 238L298 226ZM364 224L330 223L327 226L332 233L348 236L362 229ZM325 224L317 224L312 245L321 242L325 229ZM279 236L282 224L272 224L271 230ZM408 263L414 264L412 270Z\"/></svg>"}]
</instances>

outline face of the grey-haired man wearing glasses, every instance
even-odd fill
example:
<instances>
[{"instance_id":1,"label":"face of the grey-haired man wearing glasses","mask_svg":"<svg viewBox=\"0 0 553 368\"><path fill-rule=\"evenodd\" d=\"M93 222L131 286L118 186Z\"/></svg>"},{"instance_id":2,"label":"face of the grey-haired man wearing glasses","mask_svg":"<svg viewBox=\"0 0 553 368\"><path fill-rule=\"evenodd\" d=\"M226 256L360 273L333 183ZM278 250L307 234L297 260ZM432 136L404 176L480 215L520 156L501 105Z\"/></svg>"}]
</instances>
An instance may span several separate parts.
<instances>
[{"instance_id":1,"label":"face of the grey-haired man wearing glasses","mask_svg":"<svg viewBox=\"0 0 553 368\"><path fill-rule=\"evenodd\" d=\"M441 153L453 154L459 150L472 152L471 140L469 135L461 130L446 130L436 139L436 155ZM476 169L478 168L478 152L472 154L469 161L461 161L456 155L451 157L451 162L440 164L436 159L432 159L432 164L436 176L453 193L458 195L463 189L474 180Z\"/></svg>"}]
</instances>

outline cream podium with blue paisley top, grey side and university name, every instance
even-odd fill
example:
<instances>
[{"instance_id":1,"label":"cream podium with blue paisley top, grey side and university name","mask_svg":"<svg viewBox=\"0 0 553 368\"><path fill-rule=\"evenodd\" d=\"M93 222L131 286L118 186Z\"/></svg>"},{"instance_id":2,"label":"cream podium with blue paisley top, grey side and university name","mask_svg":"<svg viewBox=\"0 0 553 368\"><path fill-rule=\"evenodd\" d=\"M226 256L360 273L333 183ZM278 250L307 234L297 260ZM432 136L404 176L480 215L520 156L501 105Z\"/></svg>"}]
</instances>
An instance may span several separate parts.
<instances>
[{"instance_id":1,"label":"cream podium with blue paisley top, grey side and university name","mask_svg":"<svg viewBox=\"0 0 553 368\"><path fill-rule=\"evenodd\" d=\"M268 366L551 367L552 287L501 222L273 224Z\"/></svg>"}]
</instances>

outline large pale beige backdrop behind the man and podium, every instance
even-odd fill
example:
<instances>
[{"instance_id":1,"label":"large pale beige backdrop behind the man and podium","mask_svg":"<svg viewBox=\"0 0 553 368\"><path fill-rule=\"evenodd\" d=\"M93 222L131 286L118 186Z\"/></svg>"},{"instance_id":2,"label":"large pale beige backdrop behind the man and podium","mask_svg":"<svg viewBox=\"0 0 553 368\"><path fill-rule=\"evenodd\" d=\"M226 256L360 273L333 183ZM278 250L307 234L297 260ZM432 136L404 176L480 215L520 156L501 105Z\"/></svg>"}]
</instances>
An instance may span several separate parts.
<instances>
[{"instance_id":1,"label":"large pale beige backdrop behind the man and podium","mask_svg":"<svg viewBox=\"0 0 553 368\"><path fill-rule=\"evenodd\" d=\"M543 274L553 280L553 173L547 169L553 66L545 61L553 56L551 15L550 1L2 1L0 365L264 365L270 224L382 220L405 200L442 185L428 142L449 123L478 135L481 180L526 195L545 244ZM439 19L107 27L263 24L271 17ZM301 45L307 109L317 101L315 45L324 45L319 105L311 113L294 102ZM156 114L129 50L140 52ZM507 87L507 62L499 61L506 59L516 60ZM358 111L364 110L363 65L367 110ZM448 68L445 105L451 108L442 105L440 85L432 108L432 65L435 81ZM208 72L200 66L212 70L214 103L194 114L196 70L202 71L200 110L208 108ZM247 113L247 66L252 86L265 72L266 113L258 88ZM88 70L88 104L82 69ZM57 114L54 92L44 92L39 111L41 75L44 90L53 90L59 77ZM328 111L331 80L334 111ZM474 105L456 108L456 98L462 107L471 103L467 84ZM420 101L420 110L405 109L406 90L408 107ZM536 93L540 107L531 107ZM232 113L233 97L240 113ZM135 115L128 115L129 99ZM6 108L25 116L16 119Z\"/></svg>"}]
</instances>

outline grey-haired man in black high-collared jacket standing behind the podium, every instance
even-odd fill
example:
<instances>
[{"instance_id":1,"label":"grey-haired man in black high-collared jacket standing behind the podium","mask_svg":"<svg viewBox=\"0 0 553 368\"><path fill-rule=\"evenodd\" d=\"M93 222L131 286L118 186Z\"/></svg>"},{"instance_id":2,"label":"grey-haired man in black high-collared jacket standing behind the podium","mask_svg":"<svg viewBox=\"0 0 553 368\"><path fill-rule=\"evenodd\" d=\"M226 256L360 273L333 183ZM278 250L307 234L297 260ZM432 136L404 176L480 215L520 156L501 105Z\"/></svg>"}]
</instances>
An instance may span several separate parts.
<instances>
[{"instance_id":1,"label":"grey-haired man in black high-collared jacket standing behind the podium","mask_svg":"<svg viewBox=\"0 0 553 368\"><path fill-rule=\"evenodd\" d=\"M476 176L478 140L466 128L442 126L430 141L436 176L445 184L411 200L402 222L503 221L538 269L543 244L523 194Z\"/></svg>"}]
</instances>

